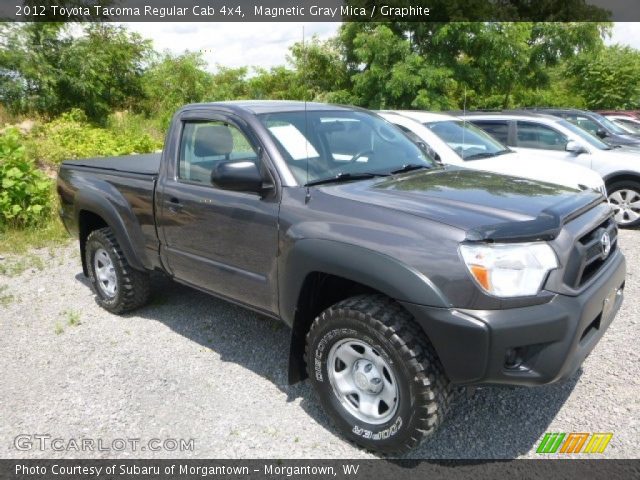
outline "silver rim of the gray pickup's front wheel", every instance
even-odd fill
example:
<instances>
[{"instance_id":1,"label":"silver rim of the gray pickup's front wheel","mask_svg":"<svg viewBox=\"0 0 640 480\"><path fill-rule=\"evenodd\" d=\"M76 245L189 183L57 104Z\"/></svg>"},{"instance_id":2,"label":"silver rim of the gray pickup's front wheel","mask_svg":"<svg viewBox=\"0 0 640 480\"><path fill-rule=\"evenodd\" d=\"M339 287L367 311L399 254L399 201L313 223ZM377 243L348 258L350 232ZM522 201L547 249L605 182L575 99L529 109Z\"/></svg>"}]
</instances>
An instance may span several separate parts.
<instances>
[{"instance_id":1,"label":"silver rim of the gray pickup's front wheel","mask_svg":"<svg viewBox=\"0 0 640 480\"><path fill-rule=\"evenodd\" d=\"M347 338L327 357L329 381L344 408L358 420L381 424L398 409L398 384L393 370L371 345Z\"/></svg>"}]
</instances>

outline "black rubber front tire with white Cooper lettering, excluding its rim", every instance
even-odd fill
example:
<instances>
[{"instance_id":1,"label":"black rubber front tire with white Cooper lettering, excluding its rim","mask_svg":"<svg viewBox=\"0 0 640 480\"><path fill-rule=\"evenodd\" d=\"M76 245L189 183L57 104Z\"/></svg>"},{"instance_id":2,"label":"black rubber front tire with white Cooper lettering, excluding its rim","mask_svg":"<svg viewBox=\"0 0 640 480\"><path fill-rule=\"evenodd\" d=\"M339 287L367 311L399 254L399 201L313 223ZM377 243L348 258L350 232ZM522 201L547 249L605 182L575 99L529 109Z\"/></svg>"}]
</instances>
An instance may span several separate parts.
<instances>
[{"instance_id":1,"label":"black rubber front tire with white Cooper lettering, excluding its rim","mask_svg":"<svg viewBox=\"0 0 640 480\"><path fill-rule=\"evenodd\" d=\"M370 345L392 370L398 395L395 413L384 423L354 416L332 385L330 352L351 338ZM452 402L452 386L426 335L382 295L359 295L322 312L307 334L305 361L326 413L348 440L368 450L388 454L416 447L440 426Z\"/></svg>"}]
</instances>

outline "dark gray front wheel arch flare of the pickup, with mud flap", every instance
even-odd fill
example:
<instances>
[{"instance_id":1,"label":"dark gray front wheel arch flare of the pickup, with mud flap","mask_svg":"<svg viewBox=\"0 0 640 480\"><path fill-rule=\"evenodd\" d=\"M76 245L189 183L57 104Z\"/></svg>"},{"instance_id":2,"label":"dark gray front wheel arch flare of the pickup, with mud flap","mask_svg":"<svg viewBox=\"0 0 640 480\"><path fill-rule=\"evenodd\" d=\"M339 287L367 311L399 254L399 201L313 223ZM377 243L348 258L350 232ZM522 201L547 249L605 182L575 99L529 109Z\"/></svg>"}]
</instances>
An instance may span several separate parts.
<instances>
[{"instance_id":1,"label":"dark gray front wheel arch flare of the pickup, with mud flap","mask_svg":"<svg viewBox=\"0 0 640 480\"><path fill-rule=\"evenodd\" d=\"M334 241L297 242L283 261L279 277L281 317L292 328L289 383L307 377L304 348L311 323L341 300L371 293L396 301L449 306L442 292L420 272L378 252Z\"/></svg>"}]
</instances>

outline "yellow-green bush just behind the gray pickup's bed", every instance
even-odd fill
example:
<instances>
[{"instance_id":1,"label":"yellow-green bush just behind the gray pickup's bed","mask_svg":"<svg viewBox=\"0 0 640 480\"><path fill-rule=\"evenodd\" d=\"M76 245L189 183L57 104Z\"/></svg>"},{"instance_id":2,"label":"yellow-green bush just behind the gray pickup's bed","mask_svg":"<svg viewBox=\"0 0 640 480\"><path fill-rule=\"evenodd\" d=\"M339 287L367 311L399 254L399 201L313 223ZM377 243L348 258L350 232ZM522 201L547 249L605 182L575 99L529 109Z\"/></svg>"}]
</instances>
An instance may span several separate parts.
<instances>
[{"instance_id":1,"label":"yellow-green bush just behind the gray pickup's bed","mask_svg":"<svg viewBox=\"0 0 640 480\"><path fill-rule=\"evenodd\" d=\"M149 133L91 125L81 110L72 110L36 128L30 137L30 156L43 163L132 153L150 153L162 147Z\"/></svg>"}]
</instances>

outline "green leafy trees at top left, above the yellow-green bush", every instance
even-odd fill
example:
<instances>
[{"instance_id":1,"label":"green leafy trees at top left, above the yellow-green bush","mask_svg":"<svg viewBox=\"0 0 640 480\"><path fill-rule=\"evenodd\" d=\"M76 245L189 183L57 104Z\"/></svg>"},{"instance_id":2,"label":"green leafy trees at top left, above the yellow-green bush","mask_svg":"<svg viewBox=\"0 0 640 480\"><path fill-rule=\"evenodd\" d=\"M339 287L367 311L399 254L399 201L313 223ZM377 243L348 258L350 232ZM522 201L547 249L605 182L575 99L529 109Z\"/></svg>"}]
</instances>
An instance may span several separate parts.
<instances>
[{"instance_id":1,"label":"green leafy trees at top left, above the yellow-green bush","mask_svg":"<svg viewBox=\"0 0 640 480\"><path fill-rule=\"evenodd\" d=\"M0 98L11 111L55 116L79 108L103 123L142 95L151 43L123 26L82 28L72 36L62 23L0 27Z\"/></svg>"}]
</instances>

